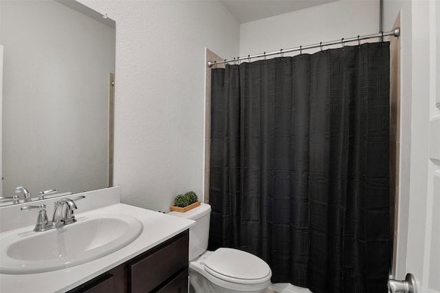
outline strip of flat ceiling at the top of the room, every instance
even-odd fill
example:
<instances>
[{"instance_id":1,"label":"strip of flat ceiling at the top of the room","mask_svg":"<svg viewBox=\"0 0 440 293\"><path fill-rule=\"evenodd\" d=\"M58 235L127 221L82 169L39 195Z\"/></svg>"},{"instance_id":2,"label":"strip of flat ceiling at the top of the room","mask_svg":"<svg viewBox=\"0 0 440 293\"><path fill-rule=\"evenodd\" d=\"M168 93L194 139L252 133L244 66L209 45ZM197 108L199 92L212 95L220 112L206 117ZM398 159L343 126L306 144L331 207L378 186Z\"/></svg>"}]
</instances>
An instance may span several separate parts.
<instances>
[{"instance_id":1,"label":"strip of flat ceiling at the top of the room","mask_svg":"<svg viewBox=\"0 0 440 293\"><path fill-rule=\"evenodd\" d=\"M338 0L220 0L239 23L318 6Z\"/></svg>"}]
</instances>

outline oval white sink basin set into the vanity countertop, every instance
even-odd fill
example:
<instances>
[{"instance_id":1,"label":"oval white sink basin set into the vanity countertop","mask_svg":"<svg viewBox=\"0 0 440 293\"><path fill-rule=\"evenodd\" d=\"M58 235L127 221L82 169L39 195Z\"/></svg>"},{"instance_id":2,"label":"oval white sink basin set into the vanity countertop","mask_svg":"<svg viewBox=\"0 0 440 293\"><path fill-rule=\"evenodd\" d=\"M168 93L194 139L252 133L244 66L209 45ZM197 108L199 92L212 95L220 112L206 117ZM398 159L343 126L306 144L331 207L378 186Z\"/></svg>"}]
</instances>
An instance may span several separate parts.
<instances>
[{"instance_id":1,"label":"oval white sink basin set into the vanity countertop","mask_svg":"<svg viewBox=\"0 0 440 293\"><path fill-rule=\"evenodd\" d=\"M0 273L61 270L104 257L134 241L141 221L129 215L78 217L74 224L45 232L21 228L0 239Z\"/></svg>"}]
</instances>

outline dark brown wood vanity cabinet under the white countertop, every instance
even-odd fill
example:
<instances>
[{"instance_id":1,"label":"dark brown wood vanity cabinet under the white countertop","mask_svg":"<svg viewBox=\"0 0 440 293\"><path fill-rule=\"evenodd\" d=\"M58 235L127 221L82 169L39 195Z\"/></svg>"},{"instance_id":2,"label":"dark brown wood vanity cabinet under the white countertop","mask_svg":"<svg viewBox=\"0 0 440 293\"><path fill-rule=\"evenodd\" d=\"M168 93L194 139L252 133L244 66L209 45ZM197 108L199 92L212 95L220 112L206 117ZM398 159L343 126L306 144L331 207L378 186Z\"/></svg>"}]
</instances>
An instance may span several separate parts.
<instances>
[{"instance_id":1,"label":"dark brown wood vanity cabinet under the white countertop","mask_svg":"<svg viewBox=\"0 0 440 293\"><path fill-rule=\"evenodd\" d=\"M186 230L69 293L188 293L188 240Z\"/></svg>"}]
</instances>

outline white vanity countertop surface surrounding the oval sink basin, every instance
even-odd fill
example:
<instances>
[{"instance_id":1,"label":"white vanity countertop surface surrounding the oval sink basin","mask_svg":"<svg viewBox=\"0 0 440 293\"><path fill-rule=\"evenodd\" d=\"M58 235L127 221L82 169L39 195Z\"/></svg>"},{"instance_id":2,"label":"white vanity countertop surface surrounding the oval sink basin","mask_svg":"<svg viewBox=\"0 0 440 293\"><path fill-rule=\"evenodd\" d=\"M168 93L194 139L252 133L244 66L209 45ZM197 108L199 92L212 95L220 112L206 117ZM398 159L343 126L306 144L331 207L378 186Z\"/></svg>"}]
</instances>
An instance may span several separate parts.
<instances>
[{"instance_id":1,"label":"white vanity countertop surface surrounding the oval sink basin","mask_svg":"<svg viewBox=\"0 0 440 293\"><path fill-rule=\"evenodd\" d=\"M88 210L84 213L77 213L76 217L106 214L123 214L136 217L142 221L144 226L142 234L128 246L116 252L65 270L39 274L0 274L0 292L66 292L157 246L157 244L170 239L195 224L195 221L126 204L113 204L103 208ZM33 228L34 225L29 226L30 231ZM1 235L12 232L14 230L3 232Z\"/></svg>"}]
</instances>

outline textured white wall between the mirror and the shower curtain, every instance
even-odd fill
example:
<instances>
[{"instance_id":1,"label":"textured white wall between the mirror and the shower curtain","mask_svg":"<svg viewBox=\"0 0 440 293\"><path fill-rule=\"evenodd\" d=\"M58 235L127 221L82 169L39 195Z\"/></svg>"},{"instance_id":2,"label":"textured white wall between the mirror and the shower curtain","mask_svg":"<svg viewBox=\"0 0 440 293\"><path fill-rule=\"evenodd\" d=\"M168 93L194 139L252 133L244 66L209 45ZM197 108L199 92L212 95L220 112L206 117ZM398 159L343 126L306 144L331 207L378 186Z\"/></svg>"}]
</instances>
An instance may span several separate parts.
<instances>
[{"instance_id":1,"label":"textured white wall between the mirror and the shower curtain","mask_svg":"<svg viewBox=\"0 0 440 293\"><path fill-rule=\"evenodd\" d=\"M122 202L169 210L203 195L205 47L239 51L219 1L80 2L116 21L115 173Z\"/></svg>"}]
</instances>

